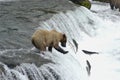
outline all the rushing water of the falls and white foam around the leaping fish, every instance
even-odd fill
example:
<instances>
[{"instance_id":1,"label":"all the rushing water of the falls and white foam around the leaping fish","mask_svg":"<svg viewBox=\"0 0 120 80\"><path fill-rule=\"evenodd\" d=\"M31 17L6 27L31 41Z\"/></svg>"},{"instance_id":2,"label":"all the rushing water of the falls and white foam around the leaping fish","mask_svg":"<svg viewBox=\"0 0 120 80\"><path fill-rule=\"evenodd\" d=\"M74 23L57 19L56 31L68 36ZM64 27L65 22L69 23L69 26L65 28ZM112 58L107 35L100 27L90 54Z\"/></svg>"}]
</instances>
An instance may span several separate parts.
<instances>
[{"instance_id":1,"label":"all the rushing water of the falls and white foam around the leaping fish","mask_svg":"<svg viewBox=\"0 0 120 80\"><path fill-rule=\"evenodd\" d=\"M94 6L92 10L96 11ZM109 11L108 14L114 13L108 5L104 7ZM40 22L36 29L56 29L67 35L65 50L69 53L64 55L53 49L52 53L46 51L42 54L35 53L34 48L0 51L3 60L7 57L9 60L14 59L16 63L10 66L6 61L1 61L0 80L120 80L119 13L112 17L113 14L107 15L108 17L104 15L107 11L100 13L79 7L73 11L55 14L49 20ZM77 41L78 51L72 39ZM83 49L99 54L86 55L82 52ZM28 62L22 63L22 55L29 55L25 59ZM39 58L50 62L41 65ZM91 65L90 75L86 70L86 60Z\"/></svg>"}]
</instances>

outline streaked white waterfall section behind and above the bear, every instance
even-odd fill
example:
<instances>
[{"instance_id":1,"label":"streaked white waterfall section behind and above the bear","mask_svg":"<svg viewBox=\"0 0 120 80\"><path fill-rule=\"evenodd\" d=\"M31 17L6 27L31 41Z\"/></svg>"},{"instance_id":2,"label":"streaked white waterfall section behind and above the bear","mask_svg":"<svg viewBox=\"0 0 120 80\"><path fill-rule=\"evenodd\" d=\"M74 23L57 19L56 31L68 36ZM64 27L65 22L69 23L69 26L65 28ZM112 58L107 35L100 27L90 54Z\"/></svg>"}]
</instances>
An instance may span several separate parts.
<instances>
[{"instance_id":1,"label":"streaked white waterfall section behind and above the bear","mask_svg":"<svg viewBox=\"0 0 120 80\"><path fill-rule=\"evenodd\" d=\"M96 35L101 20L84 7L73 11L61 12L50 20L40 22L38 29L55 29L67 34L69 39L80 41ZM97 26L95 24L98 24Z\"/></svg>"}]
</instances>

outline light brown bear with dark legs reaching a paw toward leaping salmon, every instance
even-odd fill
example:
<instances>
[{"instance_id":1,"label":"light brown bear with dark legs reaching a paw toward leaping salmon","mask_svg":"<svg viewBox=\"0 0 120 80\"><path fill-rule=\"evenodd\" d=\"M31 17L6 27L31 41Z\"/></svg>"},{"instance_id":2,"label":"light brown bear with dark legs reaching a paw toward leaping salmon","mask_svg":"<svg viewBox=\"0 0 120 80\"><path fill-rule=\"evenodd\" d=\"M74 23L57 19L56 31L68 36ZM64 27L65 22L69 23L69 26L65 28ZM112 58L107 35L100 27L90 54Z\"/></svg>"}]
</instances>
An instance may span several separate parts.
<instances>
[{"instance_id":1,"label":"light brown bear with dark legs reaching a paw toward leaping salmon","mask_svg":"<svg viewBox=\"0 0 120 80\"><path fill-rule=\"evenodd\" d=\"M59 46L59 42L61 42L61 46L66 47L67 37L56 30L48 31L40 29L32 35L32 44L40 51L46 51L46 47L48 47L48 50L52 52L52 47L54 47L63 54L68 53L68 51L64 51Z\"/></svg>"}]
</instances>

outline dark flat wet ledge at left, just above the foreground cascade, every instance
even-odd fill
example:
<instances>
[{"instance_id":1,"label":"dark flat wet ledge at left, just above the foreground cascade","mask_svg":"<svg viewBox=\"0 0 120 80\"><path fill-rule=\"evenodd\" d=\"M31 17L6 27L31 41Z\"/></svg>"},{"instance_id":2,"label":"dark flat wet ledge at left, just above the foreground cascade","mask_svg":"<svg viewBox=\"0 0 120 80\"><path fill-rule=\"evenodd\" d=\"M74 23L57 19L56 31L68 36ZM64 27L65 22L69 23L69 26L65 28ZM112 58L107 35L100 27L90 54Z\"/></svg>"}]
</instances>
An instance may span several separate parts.
<instances>
[{"instance_id":1,"label":"dark flat wet ledge at left, just above the foreground cascade","mask_svg":"<svg viewBox=\"0 0 120 80\"><path fill-rule=\"evenodd\" d=\"M6 64L9 68L14 68L22 63L34 63L38 67L50 63L50 60L44 59L40 53L28 50L10 50L0 55L0 62Z\"/></svg>"}]
</instances>

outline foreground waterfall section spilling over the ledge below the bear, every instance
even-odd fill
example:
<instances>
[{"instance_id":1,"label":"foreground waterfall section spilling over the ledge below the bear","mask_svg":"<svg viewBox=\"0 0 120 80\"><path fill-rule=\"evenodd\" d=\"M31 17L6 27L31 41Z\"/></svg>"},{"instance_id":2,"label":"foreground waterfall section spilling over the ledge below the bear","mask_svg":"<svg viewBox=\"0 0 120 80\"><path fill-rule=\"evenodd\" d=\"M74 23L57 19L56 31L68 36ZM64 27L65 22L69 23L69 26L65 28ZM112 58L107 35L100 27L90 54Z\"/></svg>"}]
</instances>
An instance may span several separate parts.
<instances>
[{"instance_id":1,"label":"foreground waterfall section spilling over the ledge below the bear","mask_svg":"<svg viewBox=\"0 0 120 80\"><path fill-rule=\"evenodd\" d=\"M40 55L53 62L40 67L22 63L13 68L0 63L0 80L86 80L88 77L85 67L74 58L75 54L63 55L54 51Z\"/></svg>"}]
</instances>

